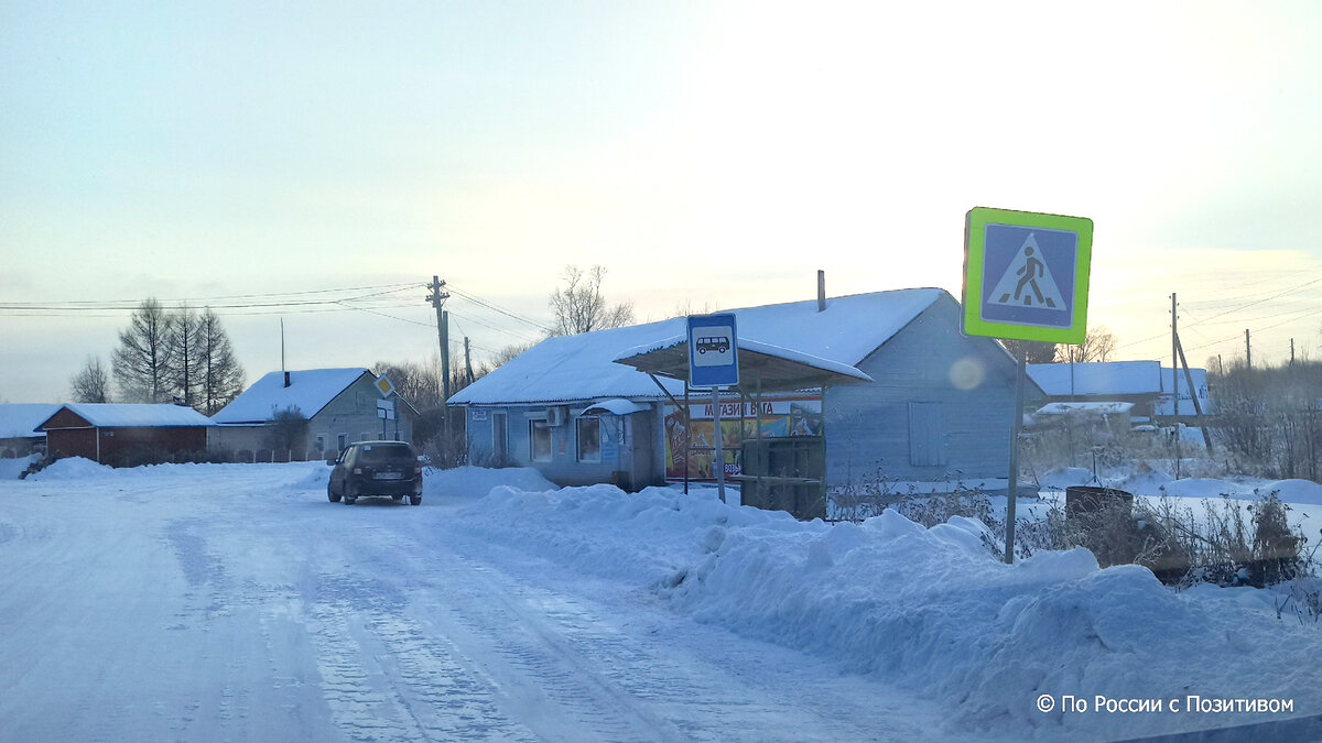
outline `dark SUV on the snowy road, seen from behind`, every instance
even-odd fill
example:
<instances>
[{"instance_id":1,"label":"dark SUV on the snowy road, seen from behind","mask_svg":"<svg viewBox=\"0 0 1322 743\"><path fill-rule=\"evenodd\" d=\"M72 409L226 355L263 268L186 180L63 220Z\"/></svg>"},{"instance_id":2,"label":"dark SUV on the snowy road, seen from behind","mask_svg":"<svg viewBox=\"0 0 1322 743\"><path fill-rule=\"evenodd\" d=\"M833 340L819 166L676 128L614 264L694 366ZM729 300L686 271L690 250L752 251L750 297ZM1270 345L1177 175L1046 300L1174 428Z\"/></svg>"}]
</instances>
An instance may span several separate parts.
<instances>
[{"instance_id":1,"label":"dark SUV on the snowy road, seen from behind","mask_svg":"<svg viewBox=\"0 0 1322 743\"><path fill-rule=\"evenodd\" d=\"M422 463L405 442L358 442L330 463L327 496L330 502L353 505L361 497L389 496L422 505Z\"/></svg>"}]
</instances>

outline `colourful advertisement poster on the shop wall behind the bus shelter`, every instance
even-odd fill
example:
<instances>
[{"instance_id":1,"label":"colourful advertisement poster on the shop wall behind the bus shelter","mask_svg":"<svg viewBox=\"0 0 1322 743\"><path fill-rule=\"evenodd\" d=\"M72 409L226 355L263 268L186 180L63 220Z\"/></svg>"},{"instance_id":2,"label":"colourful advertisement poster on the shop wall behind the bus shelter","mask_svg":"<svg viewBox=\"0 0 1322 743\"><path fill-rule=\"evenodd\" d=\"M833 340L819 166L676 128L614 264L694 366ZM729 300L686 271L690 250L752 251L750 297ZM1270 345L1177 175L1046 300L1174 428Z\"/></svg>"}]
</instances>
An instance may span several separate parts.
<instances>
[{"instance_id":1,"label":"colourful advertisement poster on the shop wall behind the bus shelter","mask_svg":"<svg viewBox=\"0 0 1322 743\"><path fill-rule=\"evenodd\" d=\"M720 403L720 446L724 450L726 476L740 475L739 452L744 438L758 435L758 410L752 402ZM761 438L820 436L822 401L820 397L777 398L761 401ZM715 430L711 401L691 399L689 415L681 407L665 406L665 464L668 480L683 480L687 451L689 480L715 480Z\"/></svg>"}]
</instances>

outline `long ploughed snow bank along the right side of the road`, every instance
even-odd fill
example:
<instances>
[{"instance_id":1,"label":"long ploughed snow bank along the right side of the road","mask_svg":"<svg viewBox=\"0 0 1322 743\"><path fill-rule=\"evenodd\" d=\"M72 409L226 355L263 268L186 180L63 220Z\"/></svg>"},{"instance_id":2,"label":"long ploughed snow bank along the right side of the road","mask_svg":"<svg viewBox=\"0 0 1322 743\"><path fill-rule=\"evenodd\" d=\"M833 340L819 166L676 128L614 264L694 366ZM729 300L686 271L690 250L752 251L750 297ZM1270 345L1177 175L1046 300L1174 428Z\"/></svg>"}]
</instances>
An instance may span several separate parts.
<instances>
[{"instance_id":1,"label":"long ploughed snow bank along the right side of the road","mask_svg":"<svg viewBox=\"0 0 1322 743\"><path fill-rule=\"evenodd\" d=\"M1097 735L1092 715L1039 711L1040 694L1322 703L1322 670L1298 660L1322 653L1322 635L1278 620L1269 603L1175 594L1141 567L1099 570L1085 550L1005 566L970 520L924 529L886 512L805 524L707 489L541 484L496 487L461 516L558 565L645 586L699 621L960 701L952 714L970 730ZM1108 735L1117 724L1126 735L1190 726L1170 715L1105 722Z\"/></svg>"}]
</instances>

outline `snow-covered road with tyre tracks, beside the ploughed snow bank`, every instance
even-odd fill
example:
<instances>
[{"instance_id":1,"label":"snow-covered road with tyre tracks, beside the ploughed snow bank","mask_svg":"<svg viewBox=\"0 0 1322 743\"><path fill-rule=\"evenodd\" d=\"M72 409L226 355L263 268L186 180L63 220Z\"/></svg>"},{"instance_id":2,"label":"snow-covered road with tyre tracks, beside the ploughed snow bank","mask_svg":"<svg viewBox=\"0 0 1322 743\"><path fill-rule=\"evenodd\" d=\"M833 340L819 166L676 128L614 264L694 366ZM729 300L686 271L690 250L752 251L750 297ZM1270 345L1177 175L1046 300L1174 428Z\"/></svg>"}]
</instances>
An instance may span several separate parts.
<instances>
[{"instance_id":1,"label":"snow-covered road with tyre tracks, beside the ploughed snow bank","mask_svg":"<svg viewBox=\"0 0 1322 743\"><path fill-rule=\"evenodd\" d=\"M0 481L0 740L871 740L947 713L312 464ZM54 475L54 473L53 473Z\"/></svg>"}]
</instances>

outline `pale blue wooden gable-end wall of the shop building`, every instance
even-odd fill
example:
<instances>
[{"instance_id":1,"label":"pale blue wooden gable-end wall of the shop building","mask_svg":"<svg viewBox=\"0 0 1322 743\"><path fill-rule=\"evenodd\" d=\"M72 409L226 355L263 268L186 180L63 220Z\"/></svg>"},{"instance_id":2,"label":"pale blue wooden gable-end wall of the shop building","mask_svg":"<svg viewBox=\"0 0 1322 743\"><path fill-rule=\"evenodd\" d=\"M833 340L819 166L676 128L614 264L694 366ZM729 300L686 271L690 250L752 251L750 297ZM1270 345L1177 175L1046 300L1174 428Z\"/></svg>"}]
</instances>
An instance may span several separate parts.
<instances>
[{"instance_id":1,"label":"pale blue wooden gable-end wall of the shop building","mask_svg":"<svg viewBox=\"0 0 1322 743\"><path fill-rule=\"evenodd\" d=\"M976 389L951 382L961 360L982 369ZM962 334L956 301L939 300L858 366L876 383L825 394L828 487L878 475L899 481L1006 477L1014 361L995 341Z\"/></svg>"}]
</instances>

